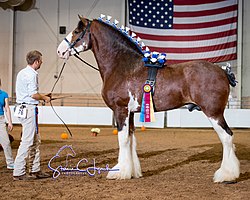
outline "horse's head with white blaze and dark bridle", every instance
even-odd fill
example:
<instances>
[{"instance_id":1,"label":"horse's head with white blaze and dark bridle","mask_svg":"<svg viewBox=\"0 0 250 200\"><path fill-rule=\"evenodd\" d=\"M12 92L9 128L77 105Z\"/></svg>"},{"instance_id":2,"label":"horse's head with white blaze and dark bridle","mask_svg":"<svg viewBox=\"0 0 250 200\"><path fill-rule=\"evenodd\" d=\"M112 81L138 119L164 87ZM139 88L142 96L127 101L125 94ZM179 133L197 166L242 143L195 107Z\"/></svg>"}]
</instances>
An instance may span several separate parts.
<instances>
[{"instance_id":1,"label":"horse's head with white blaze and dark bridle","mask_svg":"<svg viewBox=\"0 0 250 200\"><path fill-rule=\"evenodd\" d=\"M59 44L57 53L60 58L68 58L71 55L90 49L90 24L91 22L79 16L78 26L70 32Z\"/></svg>"}]
</instances>

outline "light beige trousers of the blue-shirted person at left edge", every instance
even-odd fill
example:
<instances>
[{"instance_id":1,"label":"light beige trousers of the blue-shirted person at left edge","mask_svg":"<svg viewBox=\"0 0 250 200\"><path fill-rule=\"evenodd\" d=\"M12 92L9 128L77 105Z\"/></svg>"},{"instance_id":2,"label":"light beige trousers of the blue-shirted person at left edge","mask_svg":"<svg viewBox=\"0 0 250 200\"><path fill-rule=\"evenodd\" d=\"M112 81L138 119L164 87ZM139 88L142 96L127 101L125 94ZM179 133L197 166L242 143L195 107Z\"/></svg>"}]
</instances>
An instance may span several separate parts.
<instances>
[{"instance_id":1,"label":"light beige trousers of the blue-shirted person at left edge","mask_svg":"<svg viewBox=\"0 0 250 200\"><path fill-rule=\"evenodd\" d=\"M6 123L5 123L4 115L0 115L0 144L3 147L7 166L13 165L14 159L12 157L10 140L9 140L9 136L6 130Z\"/></svg>"}]
</instances>

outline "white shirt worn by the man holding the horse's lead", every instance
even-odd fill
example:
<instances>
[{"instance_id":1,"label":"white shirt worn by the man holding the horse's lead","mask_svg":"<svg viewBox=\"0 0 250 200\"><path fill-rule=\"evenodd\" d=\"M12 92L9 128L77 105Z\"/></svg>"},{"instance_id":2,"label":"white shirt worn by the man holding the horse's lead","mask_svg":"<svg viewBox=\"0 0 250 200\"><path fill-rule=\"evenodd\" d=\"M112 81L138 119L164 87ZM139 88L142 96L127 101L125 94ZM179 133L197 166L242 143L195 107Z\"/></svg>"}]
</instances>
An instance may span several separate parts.
<instances>
[{"instance_id":1,"label":"white shirt worn by the man holding the horse's lead","mask_svg":"<svg viewBox=\"0 0 250 200\"><path fill-rule=\"evenodd\" d=\"M29 65L17 74L16 102L38 104L31 96L38 93L38 73Z\"/></svg>"}]
</instances>

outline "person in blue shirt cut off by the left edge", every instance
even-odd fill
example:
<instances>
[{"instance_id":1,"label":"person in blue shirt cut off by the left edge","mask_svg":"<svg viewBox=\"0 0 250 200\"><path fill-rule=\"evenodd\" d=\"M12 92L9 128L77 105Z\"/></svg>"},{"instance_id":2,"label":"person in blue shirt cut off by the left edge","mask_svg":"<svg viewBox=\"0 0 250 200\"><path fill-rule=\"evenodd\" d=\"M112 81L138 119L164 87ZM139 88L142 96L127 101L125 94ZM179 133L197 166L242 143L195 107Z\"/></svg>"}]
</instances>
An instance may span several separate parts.
<instances>
[{"instance_id":1,"label":"person in blue shirt cut off by the left edge","mask_svg":"<svg viewBox=\"0 0 250 200\"><path fill-rule=\"evenodd\" d=\"M3 147L7 169L14 169L14 159L12 157L9 136L6 131L4 112L8 120L8 130L12 131L13 125L11 120L8 94L5 91L1 90L1 79L0 79L0 144Z\"/></svg>"}]
</instances>

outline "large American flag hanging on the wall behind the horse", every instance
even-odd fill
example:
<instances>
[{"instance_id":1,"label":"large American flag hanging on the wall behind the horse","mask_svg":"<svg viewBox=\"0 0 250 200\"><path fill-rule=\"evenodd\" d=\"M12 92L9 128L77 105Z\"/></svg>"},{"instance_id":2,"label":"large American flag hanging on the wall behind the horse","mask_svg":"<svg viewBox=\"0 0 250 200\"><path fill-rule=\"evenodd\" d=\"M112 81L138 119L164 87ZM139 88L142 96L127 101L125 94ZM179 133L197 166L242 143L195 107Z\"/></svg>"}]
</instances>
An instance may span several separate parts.
<instances>
[{"instance_id":1,"label":"large American flag hanging on the wall behind the horse","mask_svg":"<svg viewBox=\"0 0 250 200\"><path fill-rule=\"evenodd\" d=\"M128 0L129 27L167 63L237 59L237 0Z\"/></svg>"}]
</instances>

